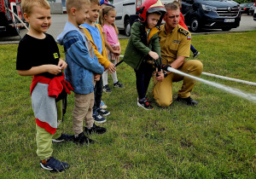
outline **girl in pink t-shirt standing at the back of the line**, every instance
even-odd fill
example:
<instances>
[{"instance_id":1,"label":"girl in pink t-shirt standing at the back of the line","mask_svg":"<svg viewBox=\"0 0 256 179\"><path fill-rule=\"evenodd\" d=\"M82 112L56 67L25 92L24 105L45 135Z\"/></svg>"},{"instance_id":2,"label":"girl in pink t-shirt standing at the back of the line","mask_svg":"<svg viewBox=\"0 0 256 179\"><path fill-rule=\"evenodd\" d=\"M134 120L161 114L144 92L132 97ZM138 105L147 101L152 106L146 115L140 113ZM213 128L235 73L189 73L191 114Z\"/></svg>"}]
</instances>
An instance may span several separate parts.
<instances>
[{"instance_id":1,"label":"girl in pink t-shirt standing at the back of the line","mask_svg":"<svg viewBox=\"0 0 256 179\"><path fill-rule=\"evenodd\" d=\"M103 37L105 40L106 48L108 51L108 60L113 61L116 64L119 61L119 55L121 53L121 47L118 38L118 29L114 25L116 12L113 7L106 7L102 9L99 22L103 27ZM111 93L108 86L108 72L103 72L103 90L107 93ZM119 83L116 72L112 73L113 86L117 88L124 88L123 84Z\"/></svg>"}]
</instances>

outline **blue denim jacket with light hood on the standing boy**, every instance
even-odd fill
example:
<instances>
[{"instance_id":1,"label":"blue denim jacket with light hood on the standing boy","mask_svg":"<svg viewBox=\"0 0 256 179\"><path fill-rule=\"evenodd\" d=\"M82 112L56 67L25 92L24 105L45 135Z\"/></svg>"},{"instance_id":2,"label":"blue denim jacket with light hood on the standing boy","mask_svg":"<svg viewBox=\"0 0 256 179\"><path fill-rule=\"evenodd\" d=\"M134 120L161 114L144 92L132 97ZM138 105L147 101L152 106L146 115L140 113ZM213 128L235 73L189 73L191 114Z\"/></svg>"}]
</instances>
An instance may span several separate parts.
<instances>
[{"instance_id":1,"label":"blue denim jacket with light hood on the standing boy","mask_svg":"<svg viewBox=\"0 0 256 179\"><path fill-rule=\"evenodd\" d=\"M67 21L64 31L57 38L64 46L67 69L65 77L75 93L89 94L94 90L94 73L102 74L103 66L93 52L90 57L84 34L76 26ZM92 50L93 51L93 50Z\"/></svg>"}]
</instances>

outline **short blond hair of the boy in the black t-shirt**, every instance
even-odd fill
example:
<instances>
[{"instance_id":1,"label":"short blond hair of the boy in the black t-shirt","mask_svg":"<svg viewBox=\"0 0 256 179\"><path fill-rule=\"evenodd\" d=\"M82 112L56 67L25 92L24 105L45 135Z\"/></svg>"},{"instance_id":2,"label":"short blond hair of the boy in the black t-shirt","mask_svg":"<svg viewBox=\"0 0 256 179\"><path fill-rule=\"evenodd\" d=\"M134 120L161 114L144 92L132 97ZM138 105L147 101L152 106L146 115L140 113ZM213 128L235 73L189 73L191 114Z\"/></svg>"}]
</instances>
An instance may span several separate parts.
<instances>
[{"instance_id":1,"label":"short blond hair of the boy in the black t-shirt","mask_svg":"<svg viewBox=\"0 0 256 179\"><path fill-rule=\"evenodd\" d=\"M22 0L21 9L23 13L32 14L32 7L38 6L44 9L50 9L49 3L46 0Z\"/></svg>"}]
</instances>

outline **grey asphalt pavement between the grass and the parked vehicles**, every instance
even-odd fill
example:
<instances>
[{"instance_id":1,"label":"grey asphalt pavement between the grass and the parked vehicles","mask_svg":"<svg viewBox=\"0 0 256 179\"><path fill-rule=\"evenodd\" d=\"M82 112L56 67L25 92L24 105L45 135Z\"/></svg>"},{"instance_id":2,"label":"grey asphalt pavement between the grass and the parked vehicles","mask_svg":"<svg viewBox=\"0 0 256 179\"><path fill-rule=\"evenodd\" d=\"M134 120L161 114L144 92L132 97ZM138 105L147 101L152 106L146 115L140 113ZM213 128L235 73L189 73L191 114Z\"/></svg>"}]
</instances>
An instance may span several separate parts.
<instances>
[{"instance_id":1,"label":"grey asphalt pavement between the grass and the parked vehicles","mask_svg":"<svg viewBox=\"0 0 256 179\"><path fill-rule=\"evenodd\" d=\"M59 34L63 31L63 28L67 21L67 14L52 14L52 23L49 27L48 33L52 35L55 39ZM220 29L204 29L201 32L193 32L192 35L201 35L201 34L212 34L212 33L230 33L230 32L246 32L252 31L256 29L256 21L253 20L252 15L242 14L240 26L231 29L229 32L223 32ZM23 38L26 34L26 29L20 29L20 36L15 37L4 37L0 34L0 44L8 44L8 43L19 43L20 39ZM119 39L128 38L125 35L119 34Z\"/></svg>"}]
</instances>

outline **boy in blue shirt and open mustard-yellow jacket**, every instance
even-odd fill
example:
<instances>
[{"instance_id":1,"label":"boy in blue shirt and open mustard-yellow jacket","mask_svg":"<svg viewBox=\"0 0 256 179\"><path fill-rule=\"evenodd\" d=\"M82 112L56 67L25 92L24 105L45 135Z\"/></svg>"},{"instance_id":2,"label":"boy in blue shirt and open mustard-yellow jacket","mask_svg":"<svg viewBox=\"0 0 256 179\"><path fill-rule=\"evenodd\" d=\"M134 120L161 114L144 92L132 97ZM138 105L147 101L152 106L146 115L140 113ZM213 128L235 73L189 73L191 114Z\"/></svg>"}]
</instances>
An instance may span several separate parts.
<instances>
[{"instance_id":1,"label":"boy in blue shirt and open mustard-yellow jacket","mask_svg":"<svg viewBox=\"0 0 256 179\"><path fill-rule=\"evenodd\" d=\"M84 29L86 36L90 39L90 43L94 48L94 53L98 58L100 64L108 69L108 72L115 72L115 66L108 61L108 54L105 48L105 42L102 35L102 27L96 24L100 11L100 3L98 0L90 0L89 18L85 20L85 23L80 27ZM102 102L102 77L96 82L95 89L95 102L93 107L92 117L97 123L106 122L106 118L102 116L108 116L110 113L101 108ZM103 105L102 105L103 106Z\"/></svg>"}]
</instances>

